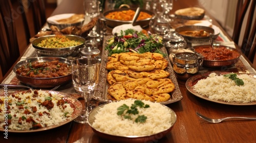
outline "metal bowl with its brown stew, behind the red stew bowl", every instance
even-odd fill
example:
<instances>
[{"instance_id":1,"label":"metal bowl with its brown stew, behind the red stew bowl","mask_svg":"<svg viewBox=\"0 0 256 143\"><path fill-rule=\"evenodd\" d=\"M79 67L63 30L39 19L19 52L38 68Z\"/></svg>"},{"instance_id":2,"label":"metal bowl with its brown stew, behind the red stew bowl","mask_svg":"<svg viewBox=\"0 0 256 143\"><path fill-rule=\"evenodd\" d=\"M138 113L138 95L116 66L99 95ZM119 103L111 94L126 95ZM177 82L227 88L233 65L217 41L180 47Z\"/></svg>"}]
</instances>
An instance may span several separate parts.
<instances>
[{"instance_id":1,"label":"metal bowl with its brown stew, behind the red stew bowl","mask_svg":"<svg viewBox=\"0 0 256 143\"><path fill-rule=\"evenodd\" d=\"M181 26L176 28L175 31L189 43L208 42L210 34L216 37L214 36L214 29L205 26Z\"/></svg>"}]
</instances>

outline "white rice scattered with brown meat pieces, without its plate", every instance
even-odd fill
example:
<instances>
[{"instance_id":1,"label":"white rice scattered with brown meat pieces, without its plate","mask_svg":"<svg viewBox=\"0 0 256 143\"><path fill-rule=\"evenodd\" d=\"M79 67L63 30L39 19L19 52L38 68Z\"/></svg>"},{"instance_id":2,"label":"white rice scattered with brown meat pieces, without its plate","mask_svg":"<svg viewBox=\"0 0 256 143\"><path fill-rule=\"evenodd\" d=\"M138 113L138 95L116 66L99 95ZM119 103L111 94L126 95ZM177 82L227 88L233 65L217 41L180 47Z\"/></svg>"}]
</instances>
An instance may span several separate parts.
<instances>
[{"instance_id":1,"label":"white rice scattered with brown meat pieces, without its plate","mask_svg":"<svg viewBox=\"0 0 256 143\"><path fill-rule=\"evenodd\" d=\"M42 90L13 93L8 97L7 111L4 97L0 97L0 128L33 130L67 121L74 109L63 98L60 94ZM8 125L5 124L5 113L8 113Z\"/></svg>"}]
</instances>

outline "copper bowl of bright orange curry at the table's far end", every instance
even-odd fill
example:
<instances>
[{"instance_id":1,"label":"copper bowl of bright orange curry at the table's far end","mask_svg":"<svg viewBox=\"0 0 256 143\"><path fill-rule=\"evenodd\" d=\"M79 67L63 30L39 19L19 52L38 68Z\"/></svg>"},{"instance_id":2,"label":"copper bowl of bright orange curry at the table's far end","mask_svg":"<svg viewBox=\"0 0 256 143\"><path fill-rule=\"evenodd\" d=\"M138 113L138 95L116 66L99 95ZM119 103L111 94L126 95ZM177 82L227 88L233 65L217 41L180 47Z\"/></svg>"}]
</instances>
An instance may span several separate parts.
<instances>
[{"instance_id":1,"label":"copper bowl of bright orange curry at the table's far end","mask_svg":"<svg viewBox=\"0 0 256 143\"><path fill-rule=\"evenodd\" d=\"M136 9L132 8L121 8L106 11L103 16L106 20L106 25L110 28L115 28L120 25L132 23ZM135 26L140 25L145 28L149 25L154 13L148 10L141 9L139 17L134 23Z\"/></svg>"}]
</instances>

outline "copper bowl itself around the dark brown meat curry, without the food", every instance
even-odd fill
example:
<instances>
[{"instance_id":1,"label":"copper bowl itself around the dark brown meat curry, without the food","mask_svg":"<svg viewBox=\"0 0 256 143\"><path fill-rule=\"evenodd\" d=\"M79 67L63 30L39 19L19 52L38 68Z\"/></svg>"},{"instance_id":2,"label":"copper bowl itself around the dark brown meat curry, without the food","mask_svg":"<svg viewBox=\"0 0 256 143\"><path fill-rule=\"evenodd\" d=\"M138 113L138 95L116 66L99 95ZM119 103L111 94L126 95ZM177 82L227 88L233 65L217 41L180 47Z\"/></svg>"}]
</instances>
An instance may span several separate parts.
<instances>
[{"instance_id":1,"label":"copper bowl itself around the dark brown meat curry, without the food","mask_svg":"<svg viewBox=\"0 0 256 143\"><path fill-rule=\"evenodd\" d=\"M34 61L39 61L39 62L44 62L44 61L53 61L53 60L58 60L62 63L66 63L71 66L71 61L65 58L59 58L59 57L38 57L38 58L33 58L33 59L28 59L24 61L18 62L14 67L13 67L13 72L16 74L16 78L29 86L32 86L34 88L52 88L58 85L65 84L67 82L70 82L72 80L72 75L69 74L67 76L61 76L61 77L55 77L55 78L30 78L30 77L24 77L20 76L19 74L16 73L16 70L23 66L24 64L27 64L29 62L34 62Z\"/></svg>"}]
</instances>

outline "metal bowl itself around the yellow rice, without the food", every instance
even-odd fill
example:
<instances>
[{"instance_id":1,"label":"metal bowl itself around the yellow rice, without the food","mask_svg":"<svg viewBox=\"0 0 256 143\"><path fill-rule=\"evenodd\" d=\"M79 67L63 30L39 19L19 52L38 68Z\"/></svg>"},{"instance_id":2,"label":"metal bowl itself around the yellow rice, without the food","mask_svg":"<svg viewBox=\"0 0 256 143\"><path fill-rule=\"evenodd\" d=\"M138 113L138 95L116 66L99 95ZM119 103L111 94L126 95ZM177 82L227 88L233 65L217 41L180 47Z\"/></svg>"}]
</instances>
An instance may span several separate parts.
<instances>
[{"instance_id":1,"label":"metal bowl itself around the yellow rice, without the food","mask_svg":"<svg viewBox=\"0 0 256 143\"><path fill-rule=\"evenodd\" d=\"M76 45L76 46L70 46L70 47L60 47L60 48L48 48L48 47L40 47L37 46L38 43L41 42L41 40L45 40L47 38L55 37L56 35L47 35L42 36L39 38L36 38L32 41L32 46L35 48L35 51L40 56L50 56L50 57L68 57L68 56L76 56L79 51L78 49L84 46L84 43L86 42L86 39L80 36L76 35L63 35L66 36L70 40L75 41L81 41L82 44Z\"/></svg>"}]
</instances>

